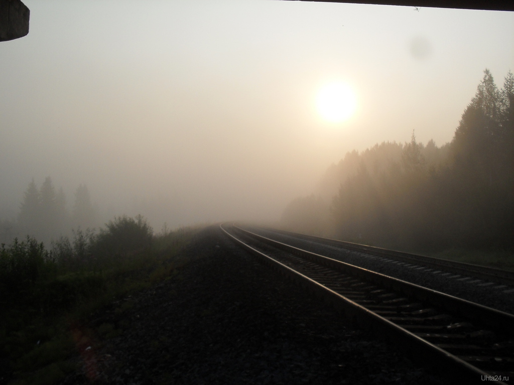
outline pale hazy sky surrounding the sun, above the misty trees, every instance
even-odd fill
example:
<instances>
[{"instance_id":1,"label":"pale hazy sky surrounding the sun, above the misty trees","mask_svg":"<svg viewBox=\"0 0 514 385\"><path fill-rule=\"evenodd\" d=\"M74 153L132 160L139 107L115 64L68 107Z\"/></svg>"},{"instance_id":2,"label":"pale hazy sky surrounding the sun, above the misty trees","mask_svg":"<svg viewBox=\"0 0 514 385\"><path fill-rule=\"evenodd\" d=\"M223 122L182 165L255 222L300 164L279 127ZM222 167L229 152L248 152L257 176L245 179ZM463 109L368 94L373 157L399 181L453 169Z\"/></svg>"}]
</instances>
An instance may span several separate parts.
<instances>
[{"instance_id":1,"label":"pale hazy sky surrounding the sun, above the misty trees","mask_svg":"<svg viewBox=\"0 0 514 385\"><path fill-rule=\"evenodd\" d=\"M158 230L278 219L348 150L449 142L483 70L514 71L514 12L234 1L24 0L0 43L0 219L34 178ZM347 121L316 107L327 83Z\"/></svg>"}]
</instances>

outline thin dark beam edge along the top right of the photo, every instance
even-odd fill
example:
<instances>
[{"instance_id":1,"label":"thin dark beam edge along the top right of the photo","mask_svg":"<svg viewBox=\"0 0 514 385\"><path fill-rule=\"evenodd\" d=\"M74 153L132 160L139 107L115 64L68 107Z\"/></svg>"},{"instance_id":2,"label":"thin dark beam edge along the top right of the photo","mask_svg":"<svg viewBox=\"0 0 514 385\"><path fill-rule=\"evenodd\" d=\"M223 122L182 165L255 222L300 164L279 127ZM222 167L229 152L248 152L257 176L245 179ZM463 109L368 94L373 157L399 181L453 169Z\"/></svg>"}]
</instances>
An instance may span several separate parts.
<instances>
[{"instance_id":1,"label":"thin dark beam edge along the top right of the photo","mask_svg":"<svg viewBox=\"0 0 514 385\"><path fill-rule=\"evenodd\" d=\"M487 11L514 11L512 0L301 0L322 3L398 5L418 8L460 8Z\"/></svg>"}]
</instances>

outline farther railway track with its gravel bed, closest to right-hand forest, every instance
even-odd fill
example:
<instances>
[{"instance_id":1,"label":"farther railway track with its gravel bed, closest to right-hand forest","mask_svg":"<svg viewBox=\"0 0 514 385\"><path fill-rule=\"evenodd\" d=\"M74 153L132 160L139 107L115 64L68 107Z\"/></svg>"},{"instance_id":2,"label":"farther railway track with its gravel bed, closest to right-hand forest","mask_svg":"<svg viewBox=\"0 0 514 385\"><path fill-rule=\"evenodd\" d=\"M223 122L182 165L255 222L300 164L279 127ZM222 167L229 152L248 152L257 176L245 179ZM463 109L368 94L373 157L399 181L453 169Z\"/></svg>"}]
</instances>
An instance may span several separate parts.
<instances>
[{"instance_id":1,"label":"farther railway track with its gravel bed, closest to right-hand forest","mask_svg":"<svg viewBox=\"0 0 514 385\"><path fill-rule=\"evenodd\" d=\"M498 272L499 269L452 262L452 264L456 264L461 268L460 274L456 274L451 269L448 269L448 262L451 261L439 258L401 253L409 258L412 257L406 261L391 255L398 252L386 249L358 244L351 244L353 247L348 248L346 246L347 242L261 227L245 228L250 229L256 234L291 246L514 314L514 281L508 280L512 272L501 271L504 273L506 281L500 282L489 274L491 271ZM370 248L372 251L366 251ZM429 266L418 261L417 257L428 259L431 265ZM470 269L467 269L468 266ZM487 272L487 277L480 274L482 270Z\"/></svg>"}]
</instances>

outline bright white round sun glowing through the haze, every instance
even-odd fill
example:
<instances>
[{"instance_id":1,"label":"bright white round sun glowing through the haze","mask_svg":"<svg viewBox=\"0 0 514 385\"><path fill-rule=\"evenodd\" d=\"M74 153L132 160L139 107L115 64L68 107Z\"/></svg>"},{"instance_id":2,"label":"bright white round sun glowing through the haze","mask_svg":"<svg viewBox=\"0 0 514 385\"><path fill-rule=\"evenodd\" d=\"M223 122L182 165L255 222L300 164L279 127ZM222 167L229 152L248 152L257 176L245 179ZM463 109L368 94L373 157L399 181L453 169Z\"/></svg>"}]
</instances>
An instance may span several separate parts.
<instances>
[{"instance_id":1,"label":"bright white round sun glowing through the haze","mask_svg":"<svg viewBox=\"0 0 514 385\"><path fill-rule=\"evenodd\" d=\"M318 111L332 123L348 120L357 107L352 89L345 83L333 82L322 87L317 98Z\"/></svg>"}]
</instances>

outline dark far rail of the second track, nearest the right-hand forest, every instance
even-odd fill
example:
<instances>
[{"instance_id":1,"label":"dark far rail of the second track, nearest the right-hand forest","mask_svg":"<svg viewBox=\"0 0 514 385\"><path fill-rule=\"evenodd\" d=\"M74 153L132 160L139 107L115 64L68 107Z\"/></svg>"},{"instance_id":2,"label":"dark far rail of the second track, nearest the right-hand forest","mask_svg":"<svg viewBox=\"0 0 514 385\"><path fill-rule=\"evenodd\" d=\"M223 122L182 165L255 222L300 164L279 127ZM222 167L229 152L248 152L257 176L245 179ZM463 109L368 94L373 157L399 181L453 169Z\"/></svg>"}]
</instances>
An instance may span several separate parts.
<instances>
[{"instance_id":1,"label":"dark far rail of the second track, nearest the right-hand forest","mask_svg":"<svg viewBox=\"0 0 514 385\"><path fill-rule=\"evenodd\" d=\"M262 227L267 231L284 234L291 237L295 237L302 240L311 240L325 245L333 245L338 246L344 249L348 249L351 251L356 251L360 253L366 253L370 255L375 255L379 257L388 257L397 261L407 262L407 263L416 263L418 265L423 265L426 267L441 269L444 268L445 271L449 273L455 273L460 275L468 275L480 279L490 280L493 282L499 282L502 284L506 284L509 286L514 286L514 272L502 270L494 267L480 266L474 265L471 263L465 262L455 262L442 258L429 257L425 255L419 254L411 254L400 252L396 250L389 250L386 248L362 245L359 243L340 241L337 239L331 238L322 238L316 237L313 235L299 234L288 232L287 230L279 230L270 227Z\"/></svg>"}]
</instances>

